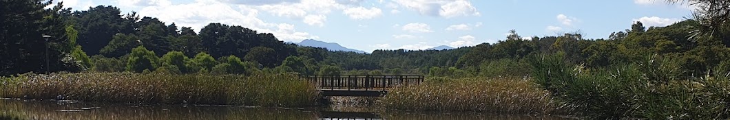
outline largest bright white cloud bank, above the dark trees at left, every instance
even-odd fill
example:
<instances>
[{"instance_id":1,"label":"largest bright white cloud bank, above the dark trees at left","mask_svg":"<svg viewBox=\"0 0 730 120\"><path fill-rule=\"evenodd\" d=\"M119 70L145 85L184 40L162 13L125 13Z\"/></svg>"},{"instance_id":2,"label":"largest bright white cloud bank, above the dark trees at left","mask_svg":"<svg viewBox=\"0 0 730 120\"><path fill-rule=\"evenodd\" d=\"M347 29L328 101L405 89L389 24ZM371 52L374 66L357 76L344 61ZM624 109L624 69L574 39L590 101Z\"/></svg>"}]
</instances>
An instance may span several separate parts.
<instances>
[{"instance_id":1,"label":"largest bright white cloud bank, above the dark trees at left","mask_svg":"<svg viewBox=\"0 0 730 120\"><path fill-rule=\"evenodd\" d=\"M167 6L144 7L140 16L158 17L165 23L175 23L199 31L208 23L241 25L261 33L274 33L277 39L296 41L317 39L310 33L296 31L295 26L287 23L266 23L258 19L258 9L239 5L237 9L219 1L196 1L190 4L170 4Z\"/></svg>"}]
</instances>

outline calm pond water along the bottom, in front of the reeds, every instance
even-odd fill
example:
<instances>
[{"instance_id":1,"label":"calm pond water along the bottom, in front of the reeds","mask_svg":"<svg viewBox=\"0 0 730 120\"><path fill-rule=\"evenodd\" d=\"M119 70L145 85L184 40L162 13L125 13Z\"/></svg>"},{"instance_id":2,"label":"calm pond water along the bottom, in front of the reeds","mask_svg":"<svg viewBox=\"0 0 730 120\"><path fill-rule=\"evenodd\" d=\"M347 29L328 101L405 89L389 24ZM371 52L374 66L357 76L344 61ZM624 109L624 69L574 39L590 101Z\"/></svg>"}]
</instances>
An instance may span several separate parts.
<instances>
[{"instance_id":1,"label":"calm pond water along the bottom, in front of the reeds","mask_svg":"<svg viewBox=\"0 0 730 120\"><path fill-rule=\"evenodd\" d=\"M382 108L329 105L270 108L223 105L134 105L52 100L0 100L0 119L566 119L473 112L383 111Z\"/></svg>"}]
</instances>

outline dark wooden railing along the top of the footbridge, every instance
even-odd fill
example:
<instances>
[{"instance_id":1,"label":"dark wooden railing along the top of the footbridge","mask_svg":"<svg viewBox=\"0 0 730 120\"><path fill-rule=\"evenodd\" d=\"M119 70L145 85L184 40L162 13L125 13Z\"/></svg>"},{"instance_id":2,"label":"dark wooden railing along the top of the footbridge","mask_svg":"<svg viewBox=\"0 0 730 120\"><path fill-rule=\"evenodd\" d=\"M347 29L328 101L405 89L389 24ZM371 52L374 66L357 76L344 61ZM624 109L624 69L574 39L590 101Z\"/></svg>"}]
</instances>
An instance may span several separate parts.
<instances>
[{"instance_id":1,"label":"dark wooden railing along the top of the footbridge","mask_svg":"<svg viewBox=\"0 0 730 120\"><path fill-rule=\"evenodd\" d=\"M385 90L398 85L413 85L423 82L423 76L353 76L353 75L304 75L307 81L319 89L364 89Z\"/></svg>"}]
</instances>

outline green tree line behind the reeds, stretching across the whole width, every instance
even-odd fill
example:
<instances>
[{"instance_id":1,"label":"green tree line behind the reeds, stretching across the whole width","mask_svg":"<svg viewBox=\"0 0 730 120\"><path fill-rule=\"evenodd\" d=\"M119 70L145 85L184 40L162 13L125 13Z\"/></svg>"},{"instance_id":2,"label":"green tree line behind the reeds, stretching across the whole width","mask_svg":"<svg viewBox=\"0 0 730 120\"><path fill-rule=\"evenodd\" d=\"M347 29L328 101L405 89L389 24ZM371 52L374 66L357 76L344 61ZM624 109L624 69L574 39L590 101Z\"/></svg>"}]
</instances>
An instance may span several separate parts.
<instances>
[{"instance_id":1,"label":"green tree line behind the reeds, stretching across the whole width","mask_svg":"<svg viewBox=\"0 0 730 120\"><path fill-rule=\"evenodd\" d=\"M728 24L712 37L688 37L685 20L666 27L634 23L607 39L580 33L522 39L510 31L497 43L448 50L332 52L279 41L239 25L210 23L200 32L112 6L85 11L60 2L0 1L0 75L55 71L161 71L172 73L296 72L301 74L429 74L430 76L525 76L531 55L564 53L586 68L607 68L661 55L680 60L684 74L706 73L728 63ZM11 9L12 8L12 9ZM48 9L46 9L48 8ZM178 29L180 28L180 29ZM43 35L52 36L45 41ZM45 51L45 48L49 51ZM45 57L48 55L48 57ZM49 65L46 66L45 62Z\"/></svg>"}]
</instances>

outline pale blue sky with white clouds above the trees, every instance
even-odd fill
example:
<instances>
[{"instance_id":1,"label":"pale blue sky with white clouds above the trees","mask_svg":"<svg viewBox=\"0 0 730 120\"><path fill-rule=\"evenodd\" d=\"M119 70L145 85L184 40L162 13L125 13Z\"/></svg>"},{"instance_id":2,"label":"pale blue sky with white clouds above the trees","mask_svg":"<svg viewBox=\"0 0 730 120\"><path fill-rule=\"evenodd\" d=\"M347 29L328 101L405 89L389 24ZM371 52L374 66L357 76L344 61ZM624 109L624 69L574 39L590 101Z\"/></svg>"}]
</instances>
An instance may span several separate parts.
<instances>
[{"instance_id":1,"label":"pale blue sky with white clouds above the trees","mask_svg":"<svg viewBox=\"0 0 730 120\"><path fill-rule=\"evenodd\" d=\"M54 2L58 2L55 0ZM158 17L200 31L208 23L274 33L280 41L304 39L344 47L428 49L494 44L514 29L524 38L581 33L607 38L634 21L666 26L694 9L664 0L60 0L87 10L115 6L123 14Z\"/></svg>"}]
</instances>

